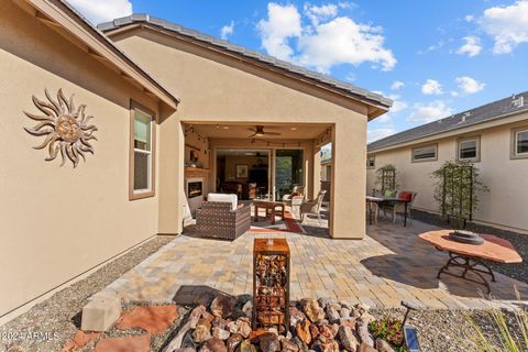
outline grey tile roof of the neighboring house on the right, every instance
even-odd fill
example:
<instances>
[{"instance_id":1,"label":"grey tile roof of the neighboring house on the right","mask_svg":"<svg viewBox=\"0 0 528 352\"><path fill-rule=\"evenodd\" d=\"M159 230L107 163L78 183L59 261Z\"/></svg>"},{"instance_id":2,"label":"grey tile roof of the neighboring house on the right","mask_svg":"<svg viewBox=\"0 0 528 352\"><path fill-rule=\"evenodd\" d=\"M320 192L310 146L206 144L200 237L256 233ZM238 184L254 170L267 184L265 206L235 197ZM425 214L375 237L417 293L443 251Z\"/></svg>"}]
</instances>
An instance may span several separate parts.
<instances>
[{"instance_id":1,"label":"grey tile roof of the neighboring house on the right","mask_svg":"<svg viewBox=\"0 0 528 352\"><path fill-rule=\"evenodd\" d=\"M519 106L519 101L524 101ZM369 144L369 152L528 111L528 91L403 131Z\"/></svg>"}]
</instances>

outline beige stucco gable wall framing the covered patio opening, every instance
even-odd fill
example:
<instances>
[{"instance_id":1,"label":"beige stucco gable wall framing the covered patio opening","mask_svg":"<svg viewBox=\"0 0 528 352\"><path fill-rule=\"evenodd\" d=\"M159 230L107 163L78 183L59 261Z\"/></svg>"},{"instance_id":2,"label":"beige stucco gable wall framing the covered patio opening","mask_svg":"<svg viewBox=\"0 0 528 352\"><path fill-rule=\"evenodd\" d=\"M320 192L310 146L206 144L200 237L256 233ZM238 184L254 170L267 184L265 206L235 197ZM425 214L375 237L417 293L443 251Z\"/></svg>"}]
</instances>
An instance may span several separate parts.
<instances>
[{"instance_id":1,"label":"beige stucco gable wall framing the covered patio opening","mask_svg":"<svg viewBox=\"0 0 528 352\"><path fill-rule=\"evenodd\" d=\"M177 113L182 121L334 123L332 185L337 191L331 232L337 238L364 237L366 106L147 29L114 40L182 98ZM180 135L174 133L175 139ZM170 163L172 176L168 170L162 174L174 179L167 185L182 187L176 182L183 175L183 158L176 167ZM163 157L161 164L165 164ZM180 204L176 197L161 202L161 228L180 231L174 219L162 216L172 213L163 207Z\"/></svg>"}]
</instances>

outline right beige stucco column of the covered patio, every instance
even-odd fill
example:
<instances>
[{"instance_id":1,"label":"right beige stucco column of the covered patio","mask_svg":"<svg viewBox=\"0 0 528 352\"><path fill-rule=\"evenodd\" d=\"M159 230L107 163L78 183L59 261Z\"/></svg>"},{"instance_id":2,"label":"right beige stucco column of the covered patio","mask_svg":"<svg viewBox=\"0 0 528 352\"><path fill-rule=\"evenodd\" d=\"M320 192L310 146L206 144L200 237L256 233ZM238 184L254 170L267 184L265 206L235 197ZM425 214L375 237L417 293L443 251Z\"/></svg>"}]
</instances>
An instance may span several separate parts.
<instances>
[{"instance_id":1,"label":"right beige stucco column of the covered patio","mask_svg":"<svg viewBox=\"0 0 528 352\"><path fill-rule=\"evenodd\" d=\"M365 235L366 118L332 128L330 235L363 239Z\"/></svg>"}]
</instances>

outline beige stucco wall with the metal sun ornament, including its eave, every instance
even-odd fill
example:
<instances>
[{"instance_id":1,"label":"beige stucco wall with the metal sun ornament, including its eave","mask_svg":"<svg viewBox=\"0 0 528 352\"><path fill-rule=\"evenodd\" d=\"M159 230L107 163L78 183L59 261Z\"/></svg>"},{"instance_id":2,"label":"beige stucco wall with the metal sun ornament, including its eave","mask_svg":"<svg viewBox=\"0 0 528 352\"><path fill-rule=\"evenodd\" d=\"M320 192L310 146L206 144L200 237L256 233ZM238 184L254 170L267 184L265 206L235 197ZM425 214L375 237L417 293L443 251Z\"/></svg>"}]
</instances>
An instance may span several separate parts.
<instances>
[{"instance_id":1,"label":"beige stucco wall with the metal sun ornament, including its eave","mask_svg":"<svg viewBox=\"0 0 528 352\"><path fill-rule=\"evenodd\" d=\"M0 11L0 316L157 233L157 197L129 201L130 99L156 105L11 1ZM23 111L63 88L99 129L96 154L73 168Z\"/></svg>"}]
</instances>

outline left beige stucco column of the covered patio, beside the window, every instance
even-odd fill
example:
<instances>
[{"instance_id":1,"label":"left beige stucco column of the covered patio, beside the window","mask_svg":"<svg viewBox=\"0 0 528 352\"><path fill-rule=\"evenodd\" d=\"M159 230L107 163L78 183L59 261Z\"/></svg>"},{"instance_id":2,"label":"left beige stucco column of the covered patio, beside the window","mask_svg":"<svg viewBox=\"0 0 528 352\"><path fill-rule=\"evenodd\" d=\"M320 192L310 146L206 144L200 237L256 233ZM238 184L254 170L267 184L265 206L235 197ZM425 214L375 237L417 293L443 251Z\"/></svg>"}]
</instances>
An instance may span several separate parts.
<instances>
[{"instance_id":1,"label":"left beige stucco column of the covered patio, beside the window","mask_svg":"<svg viewBox=\"0 0 528 352\"><path fill-rule=\"evenodd\" d=\"M184 131L175 116L160 124L158 144L158 233L176 234L183 230L184 194Z\"/></svg>"}]
</instances>

